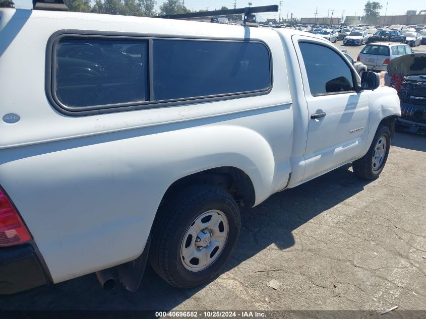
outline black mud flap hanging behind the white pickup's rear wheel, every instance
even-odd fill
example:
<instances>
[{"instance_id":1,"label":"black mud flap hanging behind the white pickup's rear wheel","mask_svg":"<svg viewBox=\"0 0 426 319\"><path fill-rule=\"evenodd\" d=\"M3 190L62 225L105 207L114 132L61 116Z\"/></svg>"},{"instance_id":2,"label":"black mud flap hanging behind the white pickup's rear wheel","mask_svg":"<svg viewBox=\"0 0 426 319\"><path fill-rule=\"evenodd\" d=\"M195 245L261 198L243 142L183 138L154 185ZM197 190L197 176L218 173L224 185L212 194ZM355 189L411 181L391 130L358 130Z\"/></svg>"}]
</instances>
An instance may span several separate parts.
<instances>
[{"instance_id":1,"label":"black mud flap hanging behind the white pickup's rear wheel","mask_svg":"<svg viewBox=\"0 0 426 319\"><path fill-rule=\"evenodd\" d=\"M118 268L118 276L121 283L131 292L138 291L142 277L145 272L146 263L148 260L148 252L151 246L151 236L148 237L144 251L134 261L120 265Z\"/></svg>"}]
</instances>

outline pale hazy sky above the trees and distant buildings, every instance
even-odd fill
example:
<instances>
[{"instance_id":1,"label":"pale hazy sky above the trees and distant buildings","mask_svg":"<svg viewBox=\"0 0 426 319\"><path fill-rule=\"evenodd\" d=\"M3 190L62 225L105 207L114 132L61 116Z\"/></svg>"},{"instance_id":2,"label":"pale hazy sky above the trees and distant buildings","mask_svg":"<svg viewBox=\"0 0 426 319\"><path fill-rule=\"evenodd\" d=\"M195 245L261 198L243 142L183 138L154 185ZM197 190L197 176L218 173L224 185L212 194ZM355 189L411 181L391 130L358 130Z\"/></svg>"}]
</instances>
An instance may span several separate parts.
<instances>
[{"instance_id":1,"label":"pale hazy sky above the trees and distant buildings","mask_svg":"<svg viewBox=\"0 0 426 319\"><path fill-rule=\"evenodd\" d=\"M32 7L31 0L14 0L16 7L23 9L30 9ZM163 3L163 0L157 0L158 5ZM279 0L251 0L253 6L267 6L275 5L279 3ZM342 17L342 11L344 10L343 16L360 16L362 15L362 10L367 0L292 0L282 1L281 6L281 17L290 17L290 14L293 13L293 17L297 18L309 18L314 17L315 9L318 6L318 17L327 17L327 14L331 16L331 12L334 9L333 17ZM381 10L381 15L385 15L386 9L386 0L379 0L380 4L383 6ZM209 10L220 9L222 6L225 6L229 9L233 8L233 0L185 0L185 6L188 9L200 10L206 9L207 3ZM426 10L426 1L424 0L389 0L388 1L388 10L386 15L403 15L407 10ZM248 1L236 0L236 7L242 8L248 6ZM330 9L330 12L328 11ZM261 14L264 18L277 18L278 13L264 13Z\"/></svg>"}]
</instances>

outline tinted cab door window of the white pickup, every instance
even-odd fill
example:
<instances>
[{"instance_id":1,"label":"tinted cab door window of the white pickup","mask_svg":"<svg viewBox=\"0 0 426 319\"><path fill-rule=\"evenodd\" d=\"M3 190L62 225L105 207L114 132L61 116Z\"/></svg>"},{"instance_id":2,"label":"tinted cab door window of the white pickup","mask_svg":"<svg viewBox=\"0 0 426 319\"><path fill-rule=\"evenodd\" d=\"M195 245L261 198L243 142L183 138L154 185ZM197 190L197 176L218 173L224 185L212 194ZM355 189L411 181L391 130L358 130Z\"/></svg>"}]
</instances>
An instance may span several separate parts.
<instances>
[{"instance_id":1,"label":"tinted cab door window of the white pickup","mask_svg":"<svg viewBox=\"0 0 426 319\"><path fill-rule=\"evenodd\" d=\"M312 95L353 91L352 73L343 57L324 45L299 42Z\"/></svg>"}]
</instances>

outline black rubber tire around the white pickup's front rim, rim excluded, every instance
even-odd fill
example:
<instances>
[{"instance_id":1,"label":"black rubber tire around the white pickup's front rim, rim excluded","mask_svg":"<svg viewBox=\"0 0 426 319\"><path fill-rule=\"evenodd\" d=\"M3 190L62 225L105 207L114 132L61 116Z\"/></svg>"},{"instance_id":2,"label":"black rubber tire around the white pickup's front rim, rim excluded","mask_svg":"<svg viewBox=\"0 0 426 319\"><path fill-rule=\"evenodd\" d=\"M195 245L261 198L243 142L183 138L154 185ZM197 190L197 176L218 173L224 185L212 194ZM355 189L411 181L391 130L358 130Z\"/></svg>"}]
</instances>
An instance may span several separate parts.
<instances>
[{"instance_id":1,"label":"black rubber tire around the white pickup's front rim, rim excluded","mask_svg":"<svg viewBox=\"0 0 426 319\"><path fill-rule=\"evenodd\" d=\"M374 170L372 166L373 154L375 153L375 147L377 142L382 137L386 140L385 156L383 157L379 169ZM391 132L389 130L389 127L385 125L380 125L377 129L376 135L374 136L373 142L367 154L352 163L353 172L358 177L361 177L363 179L374 180L378 178L383 168L385 167L386 161L388 159L390 143Z\"/></svg>"}]
</instances>

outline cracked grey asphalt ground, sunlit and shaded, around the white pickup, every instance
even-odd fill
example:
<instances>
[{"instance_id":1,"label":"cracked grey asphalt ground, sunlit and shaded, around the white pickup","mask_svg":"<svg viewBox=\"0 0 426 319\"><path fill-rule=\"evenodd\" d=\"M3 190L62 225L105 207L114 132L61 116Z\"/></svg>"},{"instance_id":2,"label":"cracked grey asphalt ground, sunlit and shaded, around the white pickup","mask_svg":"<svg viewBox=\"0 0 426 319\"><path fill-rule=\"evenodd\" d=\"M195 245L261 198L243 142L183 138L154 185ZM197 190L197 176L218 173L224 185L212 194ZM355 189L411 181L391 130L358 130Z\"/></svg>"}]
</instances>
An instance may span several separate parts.
<instances>
[{"instance_id":1,"label":"cracked grey asphalt ground, sunlit and shaded, around the white pickup","mask_svg":"<svg viewBox=\"0 0 426 319\"><path fill-rule=\"evenodd\" d=\"M91 274L2 296L0 310L424 310L425 180L426 137L398 132L378 180L347 165L246 212L232 258L204 287L172 288L148 267L137 293L102 291Z\"/></svg>"}]
</instances>

